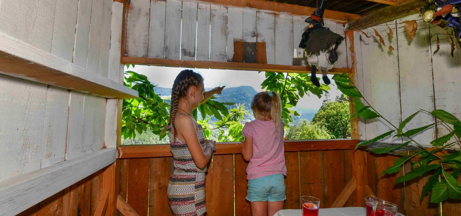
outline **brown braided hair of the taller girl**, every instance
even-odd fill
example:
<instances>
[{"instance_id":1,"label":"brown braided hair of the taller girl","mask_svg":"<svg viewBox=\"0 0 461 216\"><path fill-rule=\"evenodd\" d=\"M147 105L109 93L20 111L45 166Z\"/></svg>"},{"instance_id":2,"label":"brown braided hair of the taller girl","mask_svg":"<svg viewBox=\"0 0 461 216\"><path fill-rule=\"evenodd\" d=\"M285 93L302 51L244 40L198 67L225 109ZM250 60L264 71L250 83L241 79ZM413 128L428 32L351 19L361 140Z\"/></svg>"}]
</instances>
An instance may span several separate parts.
<instances>
[{"instance_id":1,"label":"brown braided hair of the taller girl","mask_svg":"<svg viewBox=\"0 0 461 216\"><path fill-rule=\"evenodd\" d=\"M198 87L203 82L203 77L199 73L195 73L193 70L183 70L177 76L173 82L171 88L171 103L170 103L170 122L166 126L162 134L165 133L166 129L171 127L173 129L173 140L176 140L176 127L174 121L177 115L177 106L179 99L187 96L187 90L191 86Z\"/></svg>"}]
</instances>

